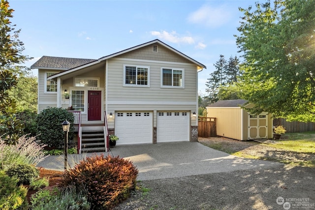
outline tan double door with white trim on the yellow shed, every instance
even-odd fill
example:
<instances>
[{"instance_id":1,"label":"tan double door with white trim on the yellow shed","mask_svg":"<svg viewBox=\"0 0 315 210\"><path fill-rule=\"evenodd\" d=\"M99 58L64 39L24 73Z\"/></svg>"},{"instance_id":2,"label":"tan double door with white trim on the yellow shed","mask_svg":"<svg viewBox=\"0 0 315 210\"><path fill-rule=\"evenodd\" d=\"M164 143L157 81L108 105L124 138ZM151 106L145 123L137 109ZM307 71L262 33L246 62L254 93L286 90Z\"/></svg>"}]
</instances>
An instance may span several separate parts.
<instances>
[{"instance_id":1,"label":"tan double door with white trim on the yellow shed","mask_svg":"<svg viewBox=\"0 0 315 210\"><path fill-rule=\"evenodd\" d=\"M266 113L259 115L249 114L248 139L259 139L268 137L268 116Z\"/></svg>"}]
</instances>

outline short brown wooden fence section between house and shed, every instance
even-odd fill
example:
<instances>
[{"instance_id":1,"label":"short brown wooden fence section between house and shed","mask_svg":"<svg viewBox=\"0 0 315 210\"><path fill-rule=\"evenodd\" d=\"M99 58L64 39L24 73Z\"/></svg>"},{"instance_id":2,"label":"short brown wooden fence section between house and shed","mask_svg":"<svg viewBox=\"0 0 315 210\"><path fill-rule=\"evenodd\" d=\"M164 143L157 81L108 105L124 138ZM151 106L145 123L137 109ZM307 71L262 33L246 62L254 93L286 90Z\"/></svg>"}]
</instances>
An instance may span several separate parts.
<instances>
[{"instance_id":1,"label":"short brown wooden fence section between house and shed","mask_svg":"<svg viewBox=\"0 0 315 210\"><path fill-rule=\"evenodd\" d=\"M208 138L217 136L217 118L199 117L198 118L198 137Z\"/></svg>"}]
</instances>

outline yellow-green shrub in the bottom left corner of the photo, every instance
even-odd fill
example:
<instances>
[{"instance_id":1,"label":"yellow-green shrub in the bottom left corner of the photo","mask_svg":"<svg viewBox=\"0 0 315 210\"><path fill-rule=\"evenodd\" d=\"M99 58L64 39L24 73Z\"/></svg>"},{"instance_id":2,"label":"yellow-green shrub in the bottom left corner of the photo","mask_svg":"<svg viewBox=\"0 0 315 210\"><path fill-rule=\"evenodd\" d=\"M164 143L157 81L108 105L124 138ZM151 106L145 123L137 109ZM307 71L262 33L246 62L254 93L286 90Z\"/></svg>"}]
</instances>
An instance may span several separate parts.
<instances>
[{"instance_id":1,"label":"yellow-green shrub in the bottom left corner of the photo","mask_svg":"<svg viewBox=\"0 0 315 210\"><path fill-rule=\"evenodd\" d=\"M18 186L19 179L0 171L0 210L26 209L28 189Z\"/></svg>"}]
</instances>

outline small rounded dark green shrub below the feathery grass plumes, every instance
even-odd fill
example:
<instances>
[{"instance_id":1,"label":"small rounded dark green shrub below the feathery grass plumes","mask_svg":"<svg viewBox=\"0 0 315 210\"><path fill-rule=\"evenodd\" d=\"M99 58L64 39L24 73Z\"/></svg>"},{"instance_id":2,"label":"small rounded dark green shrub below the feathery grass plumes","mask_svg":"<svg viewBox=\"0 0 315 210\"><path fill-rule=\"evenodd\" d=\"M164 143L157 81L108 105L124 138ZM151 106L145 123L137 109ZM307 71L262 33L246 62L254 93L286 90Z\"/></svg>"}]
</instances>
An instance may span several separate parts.
<instances>
[{"instance_id":1,"label":"small rounded dark green shrub below the feathery grass plumes","mask_svg":"<svg viewBox=\"0 0 315 210\"><path fill-rule=\"evenodd\" d=\"M5 172L8 176L17 176L18 184L30 184L39 175L38 169L32 165L13 165Z\"/></svg>"}]
</instances>

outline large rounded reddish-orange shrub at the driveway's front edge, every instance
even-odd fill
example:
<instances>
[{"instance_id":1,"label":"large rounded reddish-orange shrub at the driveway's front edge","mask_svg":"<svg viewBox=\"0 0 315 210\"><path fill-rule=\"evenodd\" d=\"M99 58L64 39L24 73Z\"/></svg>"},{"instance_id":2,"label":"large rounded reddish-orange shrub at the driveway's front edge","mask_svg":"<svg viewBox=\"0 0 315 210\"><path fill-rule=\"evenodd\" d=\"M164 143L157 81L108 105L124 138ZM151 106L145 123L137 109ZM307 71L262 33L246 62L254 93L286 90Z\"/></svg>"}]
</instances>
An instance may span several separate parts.
<instances>
[{"instance_id":1,"label":"large rounded reddish-orange shrub at the driveway's front edge","mask_svg":"<svg viewBox=\"0 0 315 210\"><path fill-rule=\"evenodd\" d=\"M63 174L63 185L85 185L92 208L109 209L129 196L138 170L128 160L94 155Z\"/></svg>"}]
</instances>

